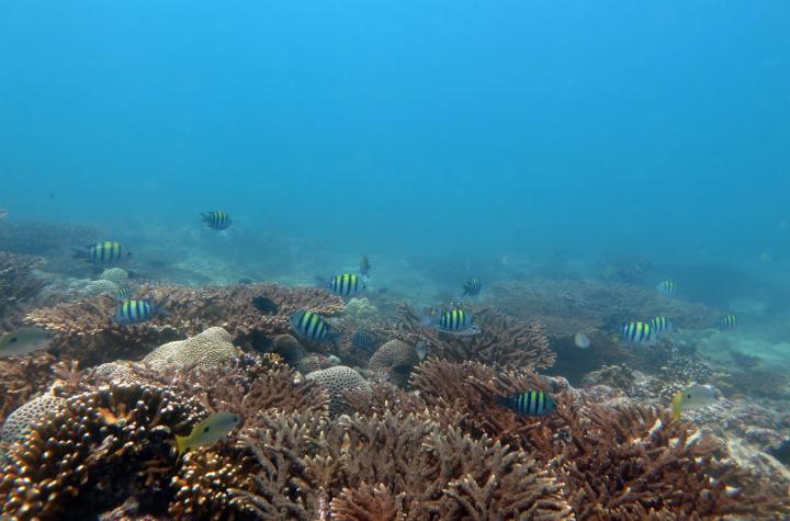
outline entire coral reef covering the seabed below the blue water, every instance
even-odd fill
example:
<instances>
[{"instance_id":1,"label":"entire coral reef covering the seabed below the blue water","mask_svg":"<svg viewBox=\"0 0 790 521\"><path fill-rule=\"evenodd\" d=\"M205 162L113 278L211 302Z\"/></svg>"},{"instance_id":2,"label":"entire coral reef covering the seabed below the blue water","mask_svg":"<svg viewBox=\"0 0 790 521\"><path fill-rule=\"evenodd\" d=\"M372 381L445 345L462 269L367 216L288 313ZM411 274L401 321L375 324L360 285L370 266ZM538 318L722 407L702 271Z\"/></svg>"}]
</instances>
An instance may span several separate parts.
<instances>
[{"instance_id":1,"label":"entire coral reef covering the seabed below the blue water","mask_svg":"<svg viewBox=\"0 0 790 521\"><path fill-rule=\"evenodd\" d=\"M729 449L746 434L713 428L714 414L708 429L673 418L670 396L713 377L692 349L601 332L622 316L713 320L704 306L667 310L624 284L494 283L464 307L481 329L464 337L383 293L345 303L326 288L144 282L131 291L167 315L120 325L123 269L47 293L41 262L0 252L4 329L53 335L46 351L0 359L3 519L790 516L786 478ZM304 309L337 338L296 335ZM354 341L361 328L373 349ZM579 388L561 376L568 350L587 356L572 367ZM514 396L534 403L501 405ZM744 424L775 418L745 410L732 407ZM179 456L176 437L218 411L234 423Z\"/></svg>"}]
</instances>

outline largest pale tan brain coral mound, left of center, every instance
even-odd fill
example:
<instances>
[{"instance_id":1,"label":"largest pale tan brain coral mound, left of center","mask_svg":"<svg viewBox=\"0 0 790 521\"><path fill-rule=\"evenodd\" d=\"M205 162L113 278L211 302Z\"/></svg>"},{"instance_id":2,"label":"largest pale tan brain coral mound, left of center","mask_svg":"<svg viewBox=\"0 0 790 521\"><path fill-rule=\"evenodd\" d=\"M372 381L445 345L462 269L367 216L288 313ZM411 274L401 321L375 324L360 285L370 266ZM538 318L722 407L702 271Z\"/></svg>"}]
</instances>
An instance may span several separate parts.
<instances>
[{"instance_id":1,"label":"largest pale tan brain coral mound, left of center","mask_svg":"<svg viewBox=\"0 0 790 521\"><path fill-rule=\"evenodd\" d=\"M187 340L159 346L143 359L154 366L182 367L196 364L200 367L219 367L230 364L239 355L232 343L230 333L219 327L208 328Z\"/></svg>"}]
</instances>

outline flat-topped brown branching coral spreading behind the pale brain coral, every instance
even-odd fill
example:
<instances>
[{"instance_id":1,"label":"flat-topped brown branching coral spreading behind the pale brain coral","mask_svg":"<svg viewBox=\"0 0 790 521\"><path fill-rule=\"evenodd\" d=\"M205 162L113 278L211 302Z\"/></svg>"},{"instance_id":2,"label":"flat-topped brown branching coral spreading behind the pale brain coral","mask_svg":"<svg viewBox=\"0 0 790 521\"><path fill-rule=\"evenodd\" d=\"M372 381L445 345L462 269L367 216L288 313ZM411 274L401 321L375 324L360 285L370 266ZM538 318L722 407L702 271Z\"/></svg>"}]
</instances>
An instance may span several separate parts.
<instances>
[{"instance_id":1,"label":"flat-topped brown branching coral spreading behind the pale brain coral","mask_svg":"<svg viewBox=\"0 0 790 521\"><path fill-rule=\"evenodd\" d=\"M55 333L53 352L97 365L115 359L139 360L146 347L192 337L218 326L237 346L270 343L270 337L290 331L289 319L297 309L323 316L342 312L342 301L318 288L292 288L276 284L246 284L191 288L172 285L146 286L140 295L157 302L168 299L168 317L135 326L112 320L117 303L111 297L78 299L36 309L26 320ZM261 312L252 303L264 296L276 312Z\"/></svg>"}]
</instances>

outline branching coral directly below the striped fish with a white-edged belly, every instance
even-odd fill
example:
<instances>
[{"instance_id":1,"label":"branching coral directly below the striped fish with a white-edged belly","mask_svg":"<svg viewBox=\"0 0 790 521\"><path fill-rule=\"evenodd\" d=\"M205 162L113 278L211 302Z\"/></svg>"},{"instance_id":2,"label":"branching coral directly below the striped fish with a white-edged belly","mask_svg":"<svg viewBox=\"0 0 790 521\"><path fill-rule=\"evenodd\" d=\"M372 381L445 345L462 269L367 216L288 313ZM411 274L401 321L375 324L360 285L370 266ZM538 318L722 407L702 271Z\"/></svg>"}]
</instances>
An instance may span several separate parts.
<instances>
[{"instance_id":1,"label":"branching coral directly below the striped fish with a white-edged belly","mask_svg":"<svg viewBox=\"0 0 790 521\"><path fill-rule=\"evenodd\" d=\"M380 335L413 344L424 341L430 355L456 362L482 362L500 369L530 370L551 367L556 359L540 324L517 320L492 307L470 309L475 324L483 330L472 337L426 328L409 306L402 305L399 309L402 321L398 328Z\"/></svg>"}]
</instances>

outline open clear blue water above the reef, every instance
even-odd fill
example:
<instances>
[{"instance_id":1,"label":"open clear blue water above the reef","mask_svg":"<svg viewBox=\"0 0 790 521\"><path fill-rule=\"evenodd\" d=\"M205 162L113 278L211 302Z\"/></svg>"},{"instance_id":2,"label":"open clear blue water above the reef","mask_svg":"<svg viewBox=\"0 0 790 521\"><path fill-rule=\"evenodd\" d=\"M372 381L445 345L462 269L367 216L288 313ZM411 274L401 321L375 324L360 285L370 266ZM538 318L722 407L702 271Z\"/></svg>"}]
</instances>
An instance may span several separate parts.
<instances>
[{"instance_id":1,"label":"open clear blue water above the reef","mask_svg":"<svg viewBox=\"0 0 790 521\"><path fill-rule=\"evenodd\" d=\"M120 238L224 208L226 243L354 261L768 276L789 23L783 1L5 3L0 207Z\"/></svg>"}]
</instances>

